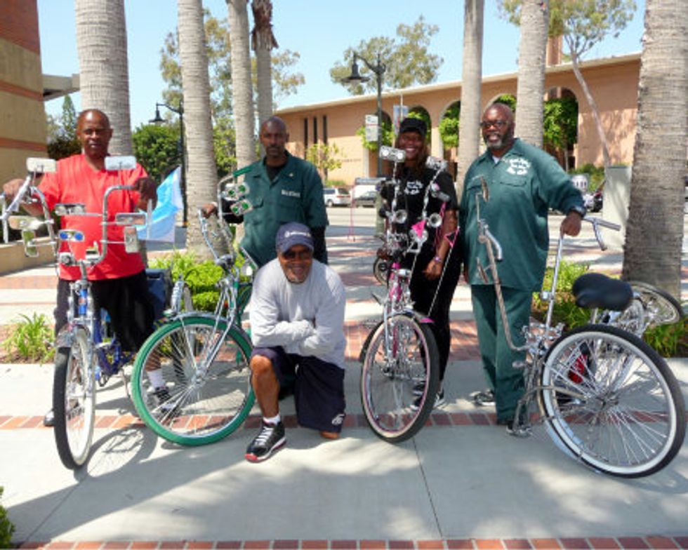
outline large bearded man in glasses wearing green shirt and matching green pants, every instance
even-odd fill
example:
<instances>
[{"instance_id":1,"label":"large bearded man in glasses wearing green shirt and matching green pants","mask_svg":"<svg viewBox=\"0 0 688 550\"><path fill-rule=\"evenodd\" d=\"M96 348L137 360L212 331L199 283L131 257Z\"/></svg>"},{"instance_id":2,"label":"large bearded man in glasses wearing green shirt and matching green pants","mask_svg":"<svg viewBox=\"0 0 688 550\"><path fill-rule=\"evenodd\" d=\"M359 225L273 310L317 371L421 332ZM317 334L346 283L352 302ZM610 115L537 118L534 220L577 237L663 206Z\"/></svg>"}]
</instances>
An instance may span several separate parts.
<instances>
[{"instance_id":1,"label":"large bearded man in glasses wearing green shirt and matching green pants","mask_svg":"<svg viewBox=\"0 0 688 550\"><path fill-rule=\"evenodd\" d=\"M512 351L504 329L494 286L477 273L477 259L489 265L484 245L477 242L476 194L481 180L487 182L489 202L480 214L503 248L498 264L509 326L516 344L522 344L521 328L529 322L532 293L540 290L545 273L549 234L549 208L564 213L561 232L575 236L586 214L581 193L555 159L541 149L514 137L514 116L507 105L495 103L482 116L482 136L487 151L468 169L459 208L463 258L470 283L480 354L489 389L477 401L494 396L497 423L512 431L516 404L523 392L521 370L512 363L523 358Z\"/></svg>"}]
</instances>

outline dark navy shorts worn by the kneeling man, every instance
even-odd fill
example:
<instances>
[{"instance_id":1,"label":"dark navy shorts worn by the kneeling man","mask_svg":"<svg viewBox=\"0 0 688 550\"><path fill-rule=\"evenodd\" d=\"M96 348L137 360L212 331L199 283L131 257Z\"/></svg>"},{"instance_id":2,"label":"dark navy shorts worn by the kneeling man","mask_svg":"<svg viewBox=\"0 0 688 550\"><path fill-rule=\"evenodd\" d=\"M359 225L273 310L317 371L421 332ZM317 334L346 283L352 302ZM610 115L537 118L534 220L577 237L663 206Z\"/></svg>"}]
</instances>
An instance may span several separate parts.
<instances>
[{"instance_id":1,"label":"dark navy shorts worn by the kneeling man","mask_svg":"<svg viewBox=\"0 0 688 550\"><path fill-rule=\"evenodd\" d=\"M272 362L279 385L294 380L298 423L320 431L341 431L345 417L344 369L313 356L287 354L280 346L258 347L253 356Z\"/></svg>"}]
</instances>

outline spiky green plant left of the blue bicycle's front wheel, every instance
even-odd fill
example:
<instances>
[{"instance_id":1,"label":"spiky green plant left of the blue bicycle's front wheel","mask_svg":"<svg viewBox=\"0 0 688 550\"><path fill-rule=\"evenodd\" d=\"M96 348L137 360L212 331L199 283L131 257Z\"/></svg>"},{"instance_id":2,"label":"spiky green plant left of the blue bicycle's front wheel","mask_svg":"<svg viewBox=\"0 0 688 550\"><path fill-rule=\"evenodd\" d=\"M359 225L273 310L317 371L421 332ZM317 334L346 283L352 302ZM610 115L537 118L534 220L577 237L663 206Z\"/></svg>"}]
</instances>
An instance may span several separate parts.
<instances>
[{"instance_id":1,"label":"spiky green plant left of the blue bicycle's front wheel","mask_svg":"<svg viewBox=\"0 0 688 550\"><path fill-rule=\"evenodd\" d=\"M53 329L44 314L20 315L23 321L13 326L2 346L10 358L47 363L55 354Z\"/></svg>"}]
</instances>

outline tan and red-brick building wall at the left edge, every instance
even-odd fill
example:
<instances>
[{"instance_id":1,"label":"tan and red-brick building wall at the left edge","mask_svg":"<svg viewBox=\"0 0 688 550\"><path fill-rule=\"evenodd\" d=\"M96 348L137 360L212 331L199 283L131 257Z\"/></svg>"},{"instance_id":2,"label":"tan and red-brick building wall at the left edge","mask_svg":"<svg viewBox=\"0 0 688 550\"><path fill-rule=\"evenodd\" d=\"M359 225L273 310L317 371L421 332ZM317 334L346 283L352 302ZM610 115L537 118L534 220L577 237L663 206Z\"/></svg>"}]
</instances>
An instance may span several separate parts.
<instances>
[{"instance_id":1,"label":"tan and red-brick building wall at the left edge","mask_svg":"<svg viewBox=\"0 0 688 550\"><path fill-rule=\"evenodd\" d=\"M0 182L23 177L28 156L46 156L36 0L0 2Z\"/></svg>"}]
</instances>

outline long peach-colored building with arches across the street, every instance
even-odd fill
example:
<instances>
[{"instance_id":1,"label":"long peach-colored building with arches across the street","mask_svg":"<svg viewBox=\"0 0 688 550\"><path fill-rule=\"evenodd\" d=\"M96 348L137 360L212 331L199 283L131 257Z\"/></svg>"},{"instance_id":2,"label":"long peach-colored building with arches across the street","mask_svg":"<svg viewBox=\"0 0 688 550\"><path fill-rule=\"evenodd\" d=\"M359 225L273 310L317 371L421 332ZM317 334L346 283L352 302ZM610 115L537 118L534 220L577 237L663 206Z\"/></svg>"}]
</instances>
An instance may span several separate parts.
<instances>
[{"instance_id":1,"label":"long peach-colored building with arches across the street","mask_svg":"<svg viewBox=\"0 0 688 550\"><path fill-rule=\"evenodd\" d=\"M550 54L550 59L552 59ZM555 62L559 61L555 58ZM633 162L637 86L640 74L640 53L590 60L580 64L581 72L597 102L602 125L607 133L611 162ZM500 95L516 95L517 72L484 77L482 107ZM569 159L574 166L586 163L602 165L602 147L595 122L583 90L570 63L550 65L545 71L545 90L573 95L578 102L578 142ZM279 109L276 114L289 128L289 150L305 156L307 147L317 142L335 143L342 151L342 166L330 170L328 179L352 185L356 177L376 175L375 153L364 148L356 134L366 114L375 114L377 95L359 95L331 102L314 103ZM461 102L461 81L435 83L382 95L383 119L390 120L394 105L406 105L411 111L424 111L430 119L430 152L433 156L456 160L456 148L445 149L439 134L439 122L449 107Z\"/></svg>"}]
</instances>

